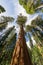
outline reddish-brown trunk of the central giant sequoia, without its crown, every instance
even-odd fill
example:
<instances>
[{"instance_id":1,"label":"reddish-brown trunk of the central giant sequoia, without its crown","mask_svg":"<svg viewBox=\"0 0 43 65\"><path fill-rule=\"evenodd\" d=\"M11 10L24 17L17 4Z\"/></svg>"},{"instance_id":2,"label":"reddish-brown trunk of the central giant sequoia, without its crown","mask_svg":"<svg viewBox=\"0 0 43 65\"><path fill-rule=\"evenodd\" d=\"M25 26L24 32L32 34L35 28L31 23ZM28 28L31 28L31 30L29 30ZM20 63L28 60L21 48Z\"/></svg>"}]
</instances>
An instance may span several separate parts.
<instances>
[{"instance_id":1,"label":"reddish-brown trunk of the central giant sequoia, without its crown","mask_svg":"<svg viewBox=\"0 0 43 65\"><path fill-rule=\"evenodd\" d=\"M32 65L24 37L23 26L20 26L20 33L16 42L10 65Z\"/></svg>"}]
</instances>

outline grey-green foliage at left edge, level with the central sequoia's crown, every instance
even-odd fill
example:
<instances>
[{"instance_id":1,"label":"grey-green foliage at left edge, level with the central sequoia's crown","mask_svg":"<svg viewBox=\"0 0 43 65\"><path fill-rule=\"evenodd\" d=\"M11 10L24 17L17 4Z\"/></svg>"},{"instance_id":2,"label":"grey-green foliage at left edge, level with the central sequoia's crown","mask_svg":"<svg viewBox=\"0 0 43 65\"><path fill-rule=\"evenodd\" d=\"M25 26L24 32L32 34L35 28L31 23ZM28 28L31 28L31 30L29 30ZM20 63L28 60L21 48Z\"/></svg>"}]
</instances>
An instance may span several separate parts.
<instances>
[{"instance_id":1,"label":"grey-green foliage at left edge, level with the central sequoia's crown","mask_svg":"<svg viewBox=\"0 0 43 65\"><path fill-rule=\"evenodd\" d=\"M13 21L14 21L13 17L1 16L0 17L0 31L6 28L8 22L13 22Z\"/></svg>"}]
</instances>

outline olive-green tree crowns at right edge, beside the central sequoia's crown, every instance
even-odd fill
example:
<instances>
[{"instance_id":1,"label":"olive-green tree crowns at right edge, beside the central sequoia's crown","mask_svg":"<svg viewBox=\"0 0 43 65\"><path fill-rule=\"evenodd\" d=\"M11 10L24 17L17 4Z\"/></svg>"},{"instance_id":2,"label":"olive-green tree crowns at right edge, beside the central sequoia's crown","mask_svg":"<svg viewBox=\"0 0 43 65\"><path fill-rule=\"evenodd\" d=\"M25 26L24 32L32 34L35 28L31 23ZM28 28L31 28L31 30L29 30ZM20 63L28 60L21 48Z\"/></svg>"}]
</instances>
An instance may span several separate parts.
<instances>
[{"instance_id":1,"label":"olive-green tree crowns at right edge, beside the central sequoia's crown","mask_svg":"<svg viewBox=\"0 0 43 65\"><path fill-rule=\"evenodd\" d=\"M26 26L26 32L32 33L33 39L37 44L43 46L43 19L38 16L31 22L31 25Z\"/></svg>"}]
</instances>

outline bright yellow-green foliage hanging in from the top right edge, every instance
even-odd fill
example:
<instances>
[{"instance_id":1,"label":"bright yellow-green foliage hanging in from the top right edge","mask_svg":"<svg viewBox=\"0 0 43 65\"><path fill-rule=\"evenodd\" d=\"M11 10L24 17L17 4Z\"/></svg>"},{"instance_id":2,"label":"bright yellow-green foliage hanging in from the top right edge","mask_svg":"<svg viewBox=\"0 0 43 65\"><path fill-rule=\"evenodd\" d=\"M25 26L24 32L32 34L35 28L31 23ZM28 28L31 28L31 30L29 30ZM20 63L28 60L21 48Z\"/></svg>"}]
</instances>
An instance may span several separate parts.
<instances>
[{"instance_id":1,"label":"bright yellow-green foliage hanging in from the top right edge","mask_svg":"<svg viewBox=\"0 0 43 65\"><path fill-rule=\"evenodd\" d=\"M27 13L34 14L41 6L41 1L42 0L19 0L19 3L23 5Z\"/></svg>"}]
</instances>

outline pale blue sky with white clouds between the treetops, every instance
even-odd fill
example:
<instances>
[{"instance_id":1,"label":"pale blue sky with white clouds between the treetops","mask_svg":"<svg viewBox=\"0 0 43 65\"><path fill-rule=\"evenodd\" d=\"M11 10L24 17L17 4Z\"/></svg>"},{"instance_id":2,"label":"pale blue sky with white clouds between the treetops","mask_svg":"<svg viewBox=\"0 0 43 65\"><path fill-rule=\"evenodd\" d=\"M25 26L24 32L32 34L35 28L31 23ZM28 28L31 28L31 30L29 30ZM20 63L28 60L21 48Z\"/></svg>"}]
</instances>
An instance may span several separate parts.
<instances>
[{"instance_id":1,"label":"pale blue sky with white clouds between the treetops","mask_svg":"<svg viewBox=\"0 0 43 65\"><path fill-rule=\"evenodd\" d=\"M5 13L1 13L0 15L5 15L5 16L12 16L15 18L15 21L17 19L17 16L22 13L23 15L27 16L27 22L26 25L30 25L31 24L31 20L33 20L34 18L36 18L39 14L41 15L42 13L38 13L38 14L27 14L25 9L23 8L23 6L21 6L19 4L18 0L0 0L0 5L2 5L6 12ZM18 28L17 28L17 24L15 23L15 21L13 23L8 23L7 27L11 27L13 25L16 26L17 32ZM29 43L29 41L27 42Z\"/></svg>"}]
</instances>

